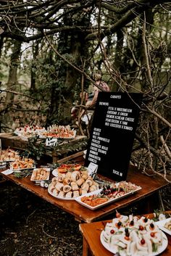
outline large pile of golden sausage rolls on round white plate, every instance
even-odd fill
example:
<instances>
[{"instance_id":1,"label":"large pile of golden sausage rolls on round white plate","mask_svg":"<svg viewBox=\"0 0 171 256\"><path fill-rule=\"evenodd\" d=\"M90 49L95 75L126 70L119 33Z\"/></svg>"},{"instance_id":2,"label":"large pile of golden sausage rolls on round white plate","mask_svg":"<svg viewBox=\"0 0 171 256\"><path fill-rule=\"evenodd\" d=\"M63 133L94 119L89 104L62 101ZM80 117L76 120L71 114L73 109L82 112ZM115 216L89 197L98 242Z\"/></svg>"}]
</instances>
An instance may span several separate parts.
<instances>
[{"instance_id":1,"label":"large pile of golden sausage rolls on round white plate","mask_svg":"<svg viewBox=\"0 0 171 256\"><path fill-rule=\"evenodd\" d=\"M99 189L98 183L88 176L87 170L59 173L49 184L49 193L54 197L75 198Z\"/></svg>"}]
</instances>

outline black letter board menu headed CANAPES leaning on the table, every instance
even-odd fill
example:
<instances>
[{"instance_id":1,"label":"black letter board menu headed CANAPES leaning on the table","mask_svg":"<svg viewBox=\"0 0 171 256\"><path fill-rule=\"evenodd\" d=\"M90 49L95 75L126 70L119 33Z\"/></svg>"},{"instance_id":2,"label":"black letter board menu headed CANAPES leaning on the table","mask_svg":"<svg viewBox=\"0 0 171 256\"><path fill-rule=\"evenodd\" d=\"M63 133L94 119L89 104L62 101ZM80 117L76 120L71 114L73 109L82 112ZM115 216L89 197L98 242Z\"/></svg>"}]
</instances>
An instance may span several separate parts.
<instances>
[{"instance_id":1,"label":"black letter board menu headed CANAPES leaning on the table","mask_svg":"<svg viewBox=\"0 0 171 256\"><path fill-rule=\"evenodd\" d=\"M127 178L142 94L99 92L85 166L114 181Z\"/></svg>"}]
</instances>

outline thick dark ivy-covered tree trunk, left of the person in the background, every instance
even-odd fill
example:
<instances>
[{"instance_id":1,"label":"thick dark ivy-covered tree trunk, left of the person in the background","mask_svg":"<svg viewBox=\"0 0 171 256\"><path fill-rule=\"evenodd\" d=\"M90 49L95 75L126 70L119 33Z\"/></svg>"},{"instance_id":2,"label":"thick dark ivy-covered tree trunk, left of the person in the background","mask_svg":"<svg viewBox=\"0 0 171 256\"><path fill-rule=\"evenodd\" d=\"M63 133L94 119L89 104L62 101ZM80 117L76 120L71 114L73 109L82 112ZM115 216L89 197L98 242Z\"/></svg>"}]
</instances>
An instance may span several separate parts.
<instances>
[{"instance_id":1,"label":"thick dark ivy-covered tree trunk, left of the person in the background","mask_svg":"<svg viewBox=\"0 0 171 256\"><path fill-rule=\"evenodd\" d=\"M78 18L78 17L77 17ZM78 24L85 24L85 16L79 16ZM69 20L69 21L68 21ZM75 19L76 20L76 19ZM71 20L65 19L64 25L70 25ZM74 21L75 22L75 21ZM85 42L85 33L72 33L72 31L60 33L58 52L77 67L83 65L82 59L88 54L88 44ZM57 83L51 88L51 104L47 124L70 123L70 108L74 102L75 90L81 91L81 74L62 59L57 57Z\"/></svg>"}]
</instances>

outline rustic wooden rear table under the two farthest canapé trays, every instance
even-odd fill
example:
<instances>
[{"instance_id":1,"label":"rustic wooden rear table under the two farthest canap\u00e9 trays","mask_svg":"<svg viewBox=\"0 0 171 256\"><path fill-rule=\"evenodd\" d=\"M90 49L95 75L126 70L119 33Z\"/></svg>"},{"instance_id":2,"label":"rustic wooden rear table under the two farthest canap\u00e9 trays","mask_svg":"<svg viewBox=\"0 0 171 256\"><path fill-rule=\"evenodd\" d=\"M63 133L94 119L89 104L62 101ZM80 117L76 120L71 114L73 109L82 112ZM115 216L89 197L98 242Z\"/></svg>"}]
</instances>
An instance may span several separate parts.
<instances>
[{"instance_id":1,"label":"rustic wooden rear table under the two farthest canap\u00e9 trays","mask_svg":"<svg viewBox=\"0 0 171 256\"><path fill-rule=\"evenodd\" d=\"M17 150L25 150L28 147L28 141L23 141L20 139L19 136L15 135L14 133L0 133L0 139L1 139L1 146L2 148L12 148L12 149L17 149ZM73 154L72 152L72 146L74 144L77 144L78 142L80 143L86 139L86 136L75 136L74 139L70 140L64 140L62 141L59 146L64 146L64 144L70 144L70 154ZM37 144L41 143L42 139L38 139ZM60 154L58 154L55 150L49 149L49 146L45 146L46 148L46 153L45 156L51 157L52 162L57 162L57 160L63 158L64 156L67 155L67 150L62 149L60 151Z\"/></svg>"}]
</instances>

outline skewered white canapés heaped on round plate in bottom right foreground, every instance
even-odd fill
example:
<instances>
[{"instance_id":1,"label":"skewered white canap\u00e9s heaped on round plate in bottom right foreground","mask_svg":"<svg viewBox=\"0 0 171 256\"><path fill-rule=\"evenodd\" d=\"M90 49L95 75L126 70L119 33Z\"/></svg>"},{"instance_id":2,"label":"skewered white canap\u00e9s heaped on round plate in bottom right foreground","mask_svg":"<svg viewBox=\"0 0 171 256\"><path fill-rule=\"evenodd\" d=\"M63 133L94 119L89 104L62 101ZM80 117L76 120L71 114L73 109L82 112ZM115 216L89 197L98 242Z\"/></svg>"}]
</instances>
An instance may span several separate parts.
<instances>
[{"instance_id":1,"label":"skewered white canap\u00e9s heaped on round plate in bottom right foreground","mask_svg":"<svg viewBox=\"0 0 171 256\"><path fill-rule=\"evenodd\" d=\"M112 223L107 223L101 239L120 256L146 256L157 252L162 246L162 231L146 217L133 217L118 214Z\"/></svg>"}]
</instances>

